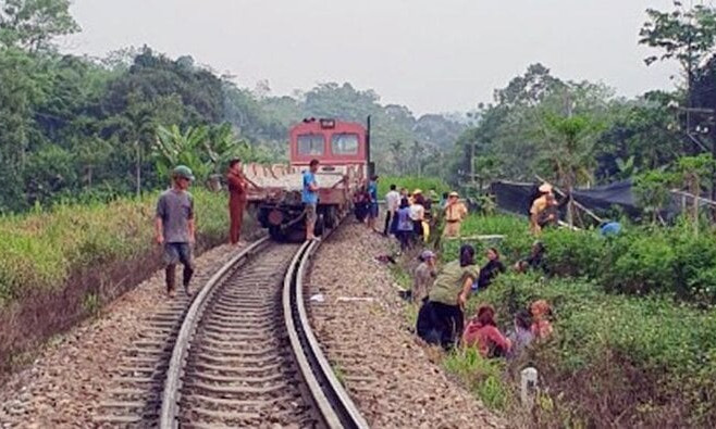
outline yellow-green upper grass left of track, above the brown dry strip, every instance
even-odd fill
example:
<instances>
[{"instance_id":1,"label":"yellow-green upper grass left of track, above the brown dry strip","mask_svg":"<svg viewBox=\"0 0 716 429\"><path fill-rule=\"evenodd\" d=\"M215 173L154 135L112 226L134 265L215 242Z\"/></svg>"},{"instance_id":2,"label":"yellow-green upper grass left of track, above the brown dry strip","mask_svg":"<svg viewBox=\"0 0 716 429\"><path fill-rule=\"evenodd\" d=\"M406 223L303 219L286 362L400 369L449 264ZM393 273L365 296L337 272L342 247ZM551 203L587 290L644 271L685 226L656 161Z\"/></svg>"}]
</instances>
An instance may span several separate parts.
<instances>
[{"instance_id":1,"label":"yellow-green upper grass left of track, above the brown dry strip","mask_svg":"<svg viewBox=\"0 0 716 429\"><path fill-rule=\"evenodd\" d=\"M193 194L197 234L225 234L225 195ZM153 245L156 200L151 194L0 217L0 308L27 290L61 288L83 267L146 254Z\"/></svg>"}]
</instances>

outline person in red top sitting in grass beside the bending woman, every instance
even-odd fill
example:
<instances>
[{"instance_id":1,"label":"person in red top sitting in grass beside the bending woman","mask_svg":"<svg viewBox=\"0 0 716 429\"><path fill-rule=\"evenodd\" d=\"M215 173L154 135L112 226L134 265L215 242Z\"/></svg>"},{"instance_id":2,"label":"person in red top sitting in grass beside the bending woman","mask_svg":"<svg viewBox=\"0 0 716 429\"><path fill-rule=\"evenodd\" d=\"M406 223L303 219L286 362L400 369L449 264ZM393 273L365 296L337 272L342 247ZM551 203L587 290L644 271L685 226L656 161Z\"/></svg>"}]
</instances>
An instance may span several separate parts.
<instances>
[{"instance_id":1,"label":"person in red top sitting in grass beside the bending woman","mask_svg":"<svg viewBox=\"0 0 716 429\"><path fill-rule=\"evenodd\" d=\"M482 357L504 357L513 346L511 341L497 329L495 311L490 305L481 306L478 315L470 320L462 333L462 345L477 348Z\"/></svg>"}]
</instances>

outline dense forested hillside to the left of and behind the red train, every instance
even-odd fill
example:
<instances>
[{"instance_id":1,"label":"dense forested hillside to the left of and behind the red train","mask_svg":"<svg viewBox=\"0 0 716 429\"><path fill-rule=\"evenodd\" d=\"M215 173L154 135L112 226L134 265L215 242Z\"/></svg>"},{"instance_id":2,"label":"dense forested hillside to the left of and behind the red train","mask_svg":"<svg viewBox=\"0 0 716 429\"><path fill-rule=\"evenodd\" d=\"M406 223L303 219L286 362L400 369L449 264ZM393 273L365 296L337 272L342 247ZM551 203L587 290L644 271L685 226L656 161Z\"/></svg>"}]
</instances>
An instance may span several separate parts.
<instances>
[{"instance_id":1,"label":"dense forested hillside to the left of and behind the red train","mask_svg":"<svg viewBox=\"0 0 716 429\"><path fill-rule=\"evenodd\" d=\"M0 213L157 189L175 162L201 178L234 154L280 162L288 127L313 116L365 123L371 115L380 172L441 175L442 154L465 129L459 118L381 105L375 92L349 84L270 97L267 85L249 91L190 56L148 47L102 60L62 54L53 38L79 30L69 4L0 5Z\"/></svg>"}]
</instances>

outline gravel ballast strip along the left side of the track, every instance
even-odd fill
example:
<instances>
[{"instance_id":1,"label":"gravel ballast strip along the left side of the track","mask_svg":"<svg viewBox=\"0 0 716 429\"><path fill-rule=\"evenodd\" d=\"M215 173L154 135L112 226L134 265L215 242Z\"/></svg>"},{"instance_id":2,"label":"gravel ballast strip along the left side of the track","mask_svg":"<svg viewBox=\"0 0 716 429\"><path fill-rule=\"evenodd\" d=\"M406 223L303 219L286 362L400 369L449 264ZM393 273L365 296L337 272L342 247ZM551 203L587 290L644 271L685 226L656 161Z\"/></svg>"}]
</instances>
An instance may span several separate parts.
<instances>
[{"instance_id":1,"label":"gravel ballast strip along the left side of the track","mask_svg":"<svg viewBox=\"0 0 716 429\"><path fill-rule=\"evenodd\" d=\"M193 290L243 245L221 245L197 257ZM163 276L163 270L157 272L109 304L98 318L51 339L32 365L11 375L0 388L0 428L96 427L92 417L112 384L112 371L148 318L171 302Z\"/></svg>"}]
</instances>

